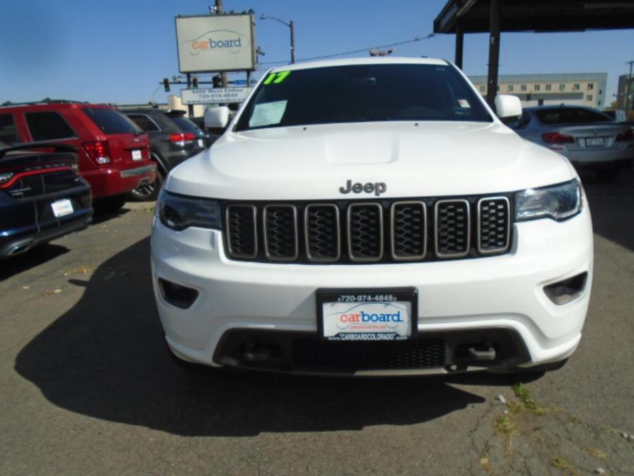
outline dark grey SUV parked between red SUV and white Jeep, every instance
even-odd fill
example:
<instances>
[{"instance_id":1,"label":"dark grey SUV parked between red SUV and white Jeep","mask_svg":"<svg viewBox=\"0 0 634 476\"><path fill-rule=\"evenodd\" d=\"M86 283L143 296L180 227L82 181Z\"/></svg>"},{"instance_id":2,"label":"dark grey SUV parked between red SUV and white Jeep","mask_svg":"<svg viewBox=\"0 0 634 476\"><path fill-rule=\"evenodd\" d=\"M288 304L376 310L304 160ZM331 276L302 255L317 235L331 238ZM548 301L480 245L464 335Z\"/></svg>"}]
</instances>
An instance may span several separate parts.
<instances>
[{"instance_id":1,"label":"dark grey SUV parked between red SUV and white Jeep","mask_svg":"<svg viewBox=\"0 0 634 476\"><path fill-rule=\"evenodd\" d=\"M138 187L130 196L137 201L155 200L169 171L186 158L205 150L204 132L183 117L185 112L181 110L140 108L122 112L147 132L151 157L158 164L156 182Z\"/></svg>"}]
</instances>

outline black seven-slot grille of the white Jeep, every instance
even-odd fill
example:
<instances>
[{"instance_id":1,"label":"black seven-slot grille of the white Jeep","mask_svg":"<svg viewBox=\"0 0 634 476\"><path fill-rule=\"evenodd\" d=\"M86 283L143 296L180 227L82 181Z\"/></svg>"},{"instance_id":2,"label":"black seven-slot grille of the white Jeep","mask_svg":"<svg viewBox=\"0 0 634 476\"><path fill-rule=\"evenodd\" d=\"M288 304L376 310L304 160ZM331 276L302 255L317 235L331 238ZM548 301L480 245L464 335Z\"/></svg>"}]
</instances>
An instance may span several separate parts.
<instances>
[{"instance_id":1,"label":"black seven-slot grille of the white Jeep","mask_svg":"<svg viewBox=\"0 0 634 476\"><path fill-rule=\"evenodd\" d=\"M230 203L232 259L293 263L437 261L508 252L504 196L337 203Z\"/></svg>"}]
</instances>

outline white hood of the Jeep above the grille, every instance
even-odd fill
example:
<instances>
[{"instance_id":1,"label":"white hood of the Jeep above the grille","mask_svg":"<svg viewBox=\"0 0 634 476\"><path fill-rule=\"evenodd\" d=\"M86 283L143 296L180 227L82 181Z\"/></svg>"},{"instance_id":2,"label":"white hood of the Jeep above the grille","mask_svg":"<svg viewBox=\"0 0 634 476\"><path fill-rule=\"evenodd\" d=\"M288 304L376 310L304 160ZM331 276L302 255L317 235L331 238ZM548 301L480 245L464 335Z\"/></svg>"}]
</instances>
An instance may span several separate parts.
<instances>
[{"instance_id":1,"label":"white hood of the Jeep above the grille","mask_svg":"<svg viewBox=\"0 0 634 476\"><path fill-rule=\"evenodd\" d=\"M574 178L568 160L500 123L374 122L227 132L169 174L166 189L231 200L478 195ZM384 187L380 187L384 188ZM357 188L358 189L358 188Z\"/></svg>"}]
</instances>

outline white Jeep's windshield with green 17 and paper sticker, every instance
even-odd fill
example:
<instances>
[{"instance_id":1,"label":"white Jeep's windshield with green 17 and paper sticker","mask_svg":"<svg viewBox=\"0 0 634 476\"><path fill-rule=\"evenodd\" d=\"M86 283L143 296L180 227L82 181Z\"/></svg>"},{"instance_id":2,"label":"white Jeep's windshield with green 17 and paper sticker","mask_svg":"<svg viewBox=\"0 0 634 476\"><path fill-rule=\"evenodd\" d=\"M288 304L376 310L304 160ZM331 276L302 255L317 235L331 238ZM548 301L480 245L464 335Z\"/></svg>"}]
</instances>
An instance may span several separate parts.
<instances>
[{"instance_id":1,"label":"white Jeep's windshield with green 17 and paper sticker","mask_svg":"<svg viewBox=\"0 0 634 476\"><path fill-rule=\"evenodd\" d=\"M236 130L364 121L483 121L491 116L449 65L358 64L269 73Z\"/></svg>"}]
</instances>

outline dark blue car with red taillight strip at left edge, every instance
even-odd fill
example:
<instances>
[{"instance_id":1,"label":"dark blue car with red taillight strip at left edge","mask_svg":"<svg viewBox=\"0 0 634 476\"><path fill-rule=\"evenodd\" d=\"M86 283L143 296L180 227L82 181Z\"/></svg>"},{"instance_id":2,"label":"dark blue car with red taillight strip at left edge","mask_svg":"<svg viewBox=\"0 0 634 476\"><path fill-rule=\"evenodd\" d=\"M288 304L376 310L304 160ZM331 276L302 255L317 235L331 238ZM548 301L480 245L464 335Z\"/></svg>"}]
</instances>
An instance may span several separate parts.
<instances>
[{"instance_id":1,"label":"dark blue car with red taillight strip at left edge","mask_svg":"<svg viewBox=\"0 0 634 476\"><path fill-rule=\"evenodd\" d=\"M83 230L92 216L74 147L0 145L0 259Z\"/></svg>"}]
</instances>

